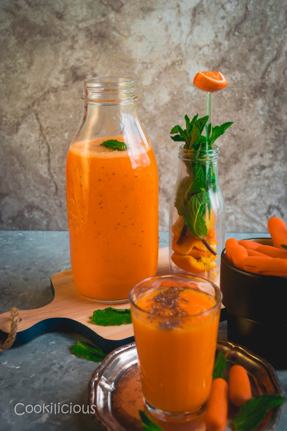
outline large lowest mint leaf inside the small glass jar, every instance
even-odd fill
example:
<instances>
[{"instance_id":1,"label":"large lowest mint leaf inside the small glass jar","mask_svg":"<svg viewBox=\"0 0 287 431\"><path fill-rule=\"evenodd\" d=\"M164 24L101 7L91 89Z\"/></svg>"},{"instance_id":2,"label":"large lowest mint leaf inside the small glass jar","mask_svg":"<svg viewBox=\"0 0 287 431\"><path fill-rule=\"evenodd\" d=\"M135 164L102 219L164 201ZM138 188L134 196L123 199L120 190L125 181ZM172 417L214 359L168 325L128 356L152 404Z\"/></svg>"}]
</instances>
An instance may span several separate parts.
<instances>
[{"instance_id":1,"label":"large lowest mint leaf inside the small glass jar","mask_svg":"<svg viewBox=\"0 0 287 431\"><path fill-rule=\"evenodd\" d=\"M195 237L202 239L207 236L207 226L202 214L205 204L209 202L208 193L202 191L188 199L183 212L185 225Z\"/></svg>"}]
</instances>

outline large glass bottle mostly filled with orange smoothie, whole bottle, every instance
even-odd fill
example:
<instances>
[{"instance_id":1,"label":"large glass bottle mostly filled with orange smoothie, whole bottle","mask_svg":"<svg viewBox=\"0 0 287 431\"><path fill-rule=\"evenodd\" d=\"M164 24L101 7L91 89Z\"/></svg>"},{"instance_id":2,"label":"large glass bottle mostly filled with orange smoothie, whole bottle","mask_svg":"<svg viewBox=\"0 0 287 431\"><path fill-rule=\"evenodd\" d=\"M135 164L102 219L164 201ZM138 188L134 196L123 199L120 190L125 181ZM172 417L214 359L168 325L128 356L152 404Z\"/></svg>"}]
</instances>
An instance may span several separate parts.
<instances>
[{"instance_id":1,"label":"large glass bottle mostly filled with orange smoothie, whole bottle","mask_svg":"<svg viewBox=\"0 0 287 431\"><path fill-rule=\"evenodd\" d=\"M100 302L127 300L133 285L157 270L157 163L136 99L130 79L83 81L83 117L68 150L74 282L80 294Z\"/></svg>"}]
</instances>

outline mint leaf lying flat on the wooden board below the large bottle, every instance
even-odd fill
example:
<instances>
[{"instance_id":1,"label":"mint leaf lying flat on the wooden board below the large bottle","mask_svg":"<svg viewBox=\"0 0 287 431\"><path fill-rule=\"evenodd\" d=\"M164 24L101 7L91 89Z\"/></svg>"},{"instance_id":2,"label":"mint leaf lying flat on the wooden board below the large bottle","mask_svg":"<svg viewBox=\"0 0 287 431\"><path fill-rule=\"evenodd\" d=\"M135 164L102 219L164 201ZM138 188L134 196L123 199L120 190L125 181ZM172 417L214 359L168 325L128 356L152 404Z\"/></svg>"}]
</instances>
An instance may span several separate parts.
<instances>
[{"instance_id":1,"label":"mint leaf lying flat on the wooden board below the large bottle","mask_svg":"<svg viewBox=\"0 0 287 431\"><path fill-rule=\"evenodd\" d=\"M92 322L96 325L109 326L109 325L125 325L127 323L132 323L132 316L130 314L130 309L120 309L120 308L104 308L103 310L95 310L93 317L90 317Z\"/></svg>"}]
</instances>

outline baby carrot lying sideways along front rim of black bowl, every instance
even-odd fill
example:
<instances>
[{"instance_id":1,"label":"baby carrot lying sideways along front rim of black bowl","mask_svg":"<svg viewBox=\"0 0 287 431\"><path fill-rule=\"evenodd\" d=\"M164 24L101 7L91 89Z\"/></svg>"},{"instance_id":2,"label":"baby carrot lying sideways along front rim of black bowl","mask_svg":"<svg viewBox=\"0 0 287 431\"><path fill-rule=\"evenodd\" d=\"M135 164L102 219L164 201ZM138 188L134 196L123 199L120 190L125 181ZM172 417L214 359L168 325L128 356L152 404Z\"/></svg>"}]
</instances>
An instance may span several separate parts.
<instances>
[{"instance_id":1,"label":"baby carrot lying sideways along front rim of black bowl","mask_svg":"<svg viewBox=\"0 0 287 431\"><path fill-rule=\"evenodd\" d=\"M274 257L257 257L248 256L243 259L243 269L256 274L278 275L286 277L287 273L287 259L275 259Z\"/></svg>"}]
</instances>

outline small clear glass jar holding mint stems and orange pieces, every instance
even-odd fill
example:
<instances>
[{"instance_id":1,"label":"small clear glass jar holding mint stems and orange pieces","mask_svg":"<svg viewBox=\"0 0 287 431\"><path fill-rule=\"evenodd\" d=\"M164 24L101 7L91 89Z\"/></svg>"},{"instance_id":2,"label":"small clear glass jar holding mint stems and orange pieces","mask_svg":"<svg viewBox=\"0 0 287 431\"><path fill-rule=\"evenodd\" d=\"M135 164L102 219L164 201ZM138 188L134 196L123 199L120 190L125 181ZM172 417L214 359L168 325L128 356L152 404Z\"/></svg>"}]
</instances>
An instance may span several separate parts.
<instances>
[{"instance_id":1,"label":"small clear glass jar holding mint stems and orange pieces","mask_svg":"<svg viewBox=\"0 0 287 431\"><path fill-rule=\"evenodd\" d=\"M179 147L179 170L170 204L170 272L217 281L224 244L224 201L219 186L219 148Z\"/></svg>"}]
</instances>

